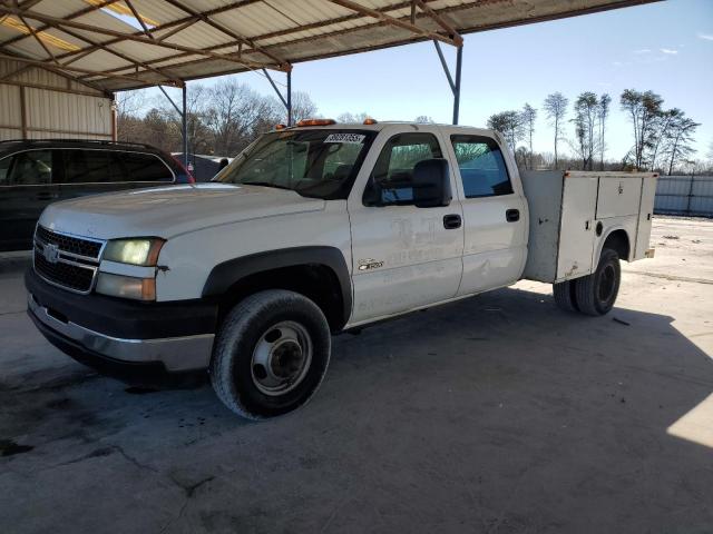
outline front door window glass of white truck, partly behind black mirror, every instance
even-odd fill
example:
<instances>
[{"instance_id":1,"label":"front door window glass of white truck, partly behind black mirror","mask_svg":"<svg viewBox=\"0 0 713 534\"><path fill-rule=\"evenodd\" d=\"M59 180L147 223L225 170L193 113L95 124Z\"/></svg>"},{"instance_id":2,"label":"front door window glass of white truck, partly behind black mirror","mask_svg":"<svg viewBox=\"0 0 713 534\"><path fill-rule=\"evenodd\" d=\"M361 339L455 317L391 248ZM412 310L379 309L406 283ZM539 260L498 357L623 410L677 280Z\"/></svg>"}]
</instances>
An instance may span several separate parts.
<instances>
[{"instance_id":1,"label":"front door window glass of white truck, partly behind black mirror","mask_svg":"<svg viewBox=\"0 0 713 534\"><path fill-rule=\"evenodd\" d=\"M432 134L399 134L384 145L364 191L367 206L413 204L413 168L424 159L442 158Z\"/></svg>"}]
</instances>

